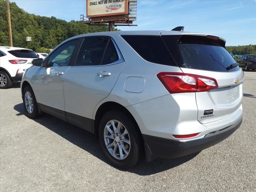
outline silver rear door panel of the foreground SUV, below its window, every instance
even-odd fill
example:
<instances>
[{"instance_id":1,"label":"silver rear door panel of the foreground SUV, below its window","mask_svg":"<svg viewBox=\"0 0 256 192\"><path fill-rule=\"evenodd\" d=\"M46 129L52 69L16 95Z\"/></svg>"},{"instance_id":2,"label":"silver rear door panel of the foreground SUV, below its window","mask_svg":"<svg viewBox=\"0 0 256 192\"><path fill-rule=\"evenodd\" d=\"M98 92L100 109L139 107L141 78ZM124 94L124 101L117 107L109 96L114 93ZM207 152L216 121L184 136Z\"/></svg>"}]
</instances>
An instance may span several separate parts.
<instances>
[{"instance_id":1,"label":"silver rear door panel of the foreground SUV, below its window","mask_svg":"<svg viewBox=\"0 0 256 192\"><path fill-rule=\"evenodd\" d=\"M114 87L125 63L102 66L72 66L64 76L65 111L92 118L95 106ZM110 72L100 77L99 72Z\"/></svg>"}]
</instances>

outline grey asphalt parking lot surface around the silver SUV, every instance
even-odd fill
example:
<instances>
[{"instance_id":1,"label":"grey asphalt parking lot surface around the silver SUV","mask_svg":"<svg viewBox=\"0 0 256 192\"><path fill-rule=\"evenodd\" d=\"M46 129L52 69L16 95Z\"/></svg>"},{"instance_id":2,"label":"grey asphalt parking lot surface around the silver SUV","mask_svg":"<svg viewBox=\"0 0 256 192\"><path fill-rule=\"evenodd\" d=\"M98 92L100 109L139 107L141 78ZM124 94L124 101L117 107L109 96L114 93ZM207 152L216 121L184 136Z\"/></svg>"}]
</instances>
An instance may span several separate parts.
<instances>
[{"instance_id":1,"label":"grey asphalt parking lot surface around the silver SUV","mask_svg":"<svg viewBox=\"0 0 256 192\"><path fill-rule=\"evenodd\" d=\"M256 192L256 71L245 72L243 123L200 153L112 167L95 136L45 114L24 115L20 84L0 90L0 191Z\"/></svg>"}]
</instances>

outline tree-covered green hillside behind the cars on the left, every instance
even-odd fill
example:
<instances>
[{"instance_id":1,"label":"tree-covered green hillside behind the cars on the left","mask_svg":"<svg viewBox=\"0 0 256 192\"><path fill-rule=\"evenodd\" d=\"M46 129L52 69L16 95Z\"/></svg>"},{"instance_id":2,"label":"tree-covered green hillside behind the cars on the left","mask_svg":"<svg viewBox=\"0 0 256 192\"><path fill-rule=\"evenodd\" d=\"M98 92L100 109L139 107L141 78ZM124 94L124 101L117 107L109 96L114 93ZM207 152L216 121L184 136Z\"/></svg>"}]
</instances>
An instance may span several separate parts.
<instances>
[{"instance_id":1,"label":"tree-covered green hillside behind the cars on the left","mask_svg":"<svg viewBox=\"0 0 256 192\"><path fill-rule=\"evenodd\" d=\"M66 22L55 17L28 14L15 2L10 2L13 46L47 52L72 36L108 31L108 26L88 26L79 21ZM32 41L27 42L26 36ZM9 46L6 1L0 0L0 46ZM39 51L44 50L44 51ZM50 52L50 50L48 51Z\"/></svg>"}]
</instances>

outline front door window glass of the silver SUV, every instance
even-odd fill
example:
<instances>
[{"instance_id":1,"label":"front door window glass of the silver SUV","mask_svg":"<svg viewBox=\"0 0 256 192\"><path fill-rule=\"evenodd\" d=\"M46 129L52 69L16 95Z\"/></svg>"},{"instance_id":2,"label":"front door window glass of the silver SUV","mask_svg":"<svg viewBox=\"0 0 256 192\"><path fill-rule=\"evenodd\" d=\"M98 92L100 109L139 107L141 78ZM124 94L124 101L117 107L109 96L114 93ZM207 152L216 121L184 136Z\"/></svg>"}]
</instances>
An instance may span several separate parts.
<instances>
[{"instance_id":1,"label":"front door window glass of the silver SUV","mask_svg":"<svg viewBox=\"0 0 256 192\"><path fill-rule=\"evenodd\" d=\"M70 66L70 59L79 40L65 43L56 49L49 57L47 65L50 67Z\"/></svg>"}]
</instances>

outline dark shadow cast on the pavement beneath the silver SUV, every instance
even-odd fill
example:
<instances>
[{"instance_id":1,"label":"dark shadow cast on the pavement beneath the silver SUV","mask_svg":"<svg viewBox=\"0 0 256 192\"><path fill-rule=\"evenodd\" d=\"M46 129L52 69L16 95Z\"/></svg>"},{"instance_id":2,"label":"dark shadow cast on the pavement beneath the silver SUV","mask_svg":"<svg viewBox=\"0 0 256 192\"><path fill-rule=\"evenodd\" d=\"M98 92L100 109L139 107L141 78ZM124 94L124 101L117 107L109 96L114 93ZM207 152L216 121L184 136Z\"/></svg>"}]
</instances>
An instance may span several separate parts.
<instances>
[{"instance_id":1,"label":"dark shadow cast on the pavement beneath the silver SUV","mask_svg":"<svg viewBox=\"0 0 256 192\"><path fill-rule=\"evenodd\" d=\"M15 105L14 110L19 112L18 114L16 114L17 116L25 116L25 111L22 103ZM49 114L44 114L42 117L34 119L34 121L38 122L39 124L48 128L49 130L55 132L56 134L60 135L62 138L68 140L69 142L75 144L76 146L86 150L87 152L96 156L105 163L109 164L108 160L103 155L100 149L100 144L98 140L90 132L78 128L68 122L64 122ZM152 162L143 161L138 166L130 168L128 170L120 170L118 168L117 169L120 171L132 172L138 175L151 175L169 170L171 168L179 166L180 164L188 162L198 154L199 152L175 159L157 158Z\"/></svg>"}]
</instances>

